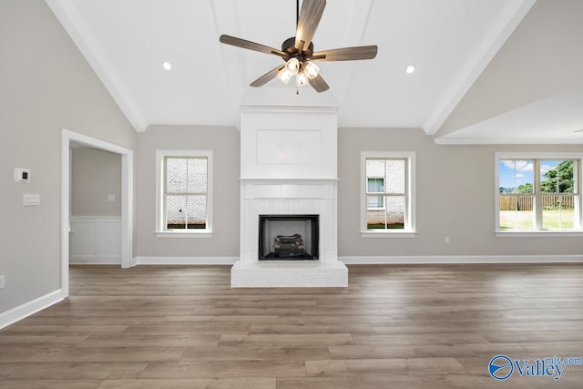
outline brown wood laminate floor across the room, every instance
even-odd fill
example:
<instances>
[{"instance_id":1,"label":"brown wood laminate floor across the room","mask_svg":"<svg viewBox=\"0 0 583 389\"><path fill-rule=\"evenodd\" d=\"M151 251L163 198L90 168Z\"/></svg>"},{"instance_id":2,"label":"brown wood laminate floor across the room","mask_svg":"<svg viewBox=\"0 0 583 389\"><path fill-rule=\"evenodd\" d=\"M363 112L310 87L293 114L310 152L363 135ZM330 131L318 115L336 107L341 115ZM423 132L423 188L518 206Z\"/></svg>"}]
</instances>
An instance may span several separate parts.
<instances>
[{"instance_id":1,"label":"brown wood laminate floor across the room","mask_svg":"<svg viewBox=\"0 0 583 389\"><path fill-rule=\"evenodd\" d=\"M488 374L497 354L583 357L581 264L350 266L349 284L71 267L70 298L0 331L0 387L583 387L583 365L559 380Z\"/></svg>"}]
</instances>

